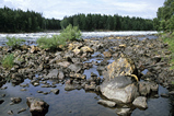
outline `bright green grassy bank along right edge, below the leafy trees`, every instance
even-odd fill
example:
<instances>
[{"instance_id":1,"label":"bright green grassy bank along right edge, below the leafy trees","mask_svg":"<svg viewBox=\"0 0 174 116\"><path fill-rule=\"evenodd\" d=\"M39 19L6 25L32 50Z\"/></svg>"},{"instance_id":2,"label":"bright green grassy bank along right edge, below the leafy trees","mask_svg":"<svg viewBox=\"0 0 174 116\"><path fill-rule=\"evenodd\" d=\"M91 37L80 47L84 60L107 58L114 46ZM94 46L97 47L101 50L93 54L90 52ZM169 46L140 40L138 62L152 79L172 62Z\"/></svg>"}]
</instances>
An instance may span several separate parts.
<instances>
[{"instance_id":1,"label":"bright green grassy bank along right edge, below the leafy trees","mask_svg":"<svg viewBox=\"0 0 174 116\"><path fill-rule=\"evenodd\" d=\"M172 53L170 57L171 69L174 69L174 32L172 34L162 33L160 39L169 45L169 50Z\"/></svg>"}]
</instances>

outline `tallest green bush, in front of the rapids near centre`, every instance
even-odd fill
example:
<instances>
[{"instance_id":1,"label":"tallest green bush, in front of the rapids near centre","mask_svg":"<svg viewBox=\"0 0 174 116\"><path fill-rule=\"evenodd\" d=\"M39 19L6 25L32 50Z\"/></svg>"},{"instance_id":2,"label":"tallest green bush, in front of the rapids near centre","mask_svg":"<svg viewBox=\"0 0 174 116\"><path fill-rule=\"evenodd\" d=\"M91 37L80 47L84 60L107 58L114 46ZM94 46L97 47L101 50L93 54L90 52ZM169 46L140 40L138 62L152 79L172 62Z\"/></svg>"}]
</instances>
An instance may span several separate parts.
<instances>
[{"instance_id":1,"label":"tallest green bush, in front of the rapids near centre","mask_svg":"<svg viewBox=\"0 0 174 116\"><path fill-rule=\"evenodd\" d=\"M81 38L81 31L78 26L72 26L71 24L69 24L60 33L60 37L66 40L77 40Z\"/></svg>"}]
</instances>

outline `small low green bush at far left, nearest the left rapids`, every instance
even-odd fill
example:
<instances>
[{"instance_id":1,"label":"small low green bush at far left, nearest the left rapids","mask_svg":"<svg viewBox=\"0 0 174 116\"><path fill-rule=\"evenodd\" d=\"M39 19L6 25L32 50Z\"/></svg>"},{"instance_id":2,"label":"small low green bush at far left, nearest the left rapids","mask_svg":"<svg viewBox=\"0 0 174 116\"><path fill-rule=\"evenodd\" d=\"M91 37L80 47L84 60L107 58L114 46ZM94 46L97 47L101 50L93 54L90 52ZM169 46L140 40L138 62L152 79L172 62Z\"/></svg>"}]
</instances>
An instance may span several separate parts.
<instances>
[{"instance_id":1,"label":"small low green bush at far left, nearest the left rapids","mask_svg":"<svg viewBox=\"0 0 174 116\"><path fill-rule=\"evenodd\" d=\"M15 38L15 37L7 37L8 42L5 43L8 46L12 48L18 48L22 43L25 42L25 39L22 38Z\"/></svg>"}]
</instances>

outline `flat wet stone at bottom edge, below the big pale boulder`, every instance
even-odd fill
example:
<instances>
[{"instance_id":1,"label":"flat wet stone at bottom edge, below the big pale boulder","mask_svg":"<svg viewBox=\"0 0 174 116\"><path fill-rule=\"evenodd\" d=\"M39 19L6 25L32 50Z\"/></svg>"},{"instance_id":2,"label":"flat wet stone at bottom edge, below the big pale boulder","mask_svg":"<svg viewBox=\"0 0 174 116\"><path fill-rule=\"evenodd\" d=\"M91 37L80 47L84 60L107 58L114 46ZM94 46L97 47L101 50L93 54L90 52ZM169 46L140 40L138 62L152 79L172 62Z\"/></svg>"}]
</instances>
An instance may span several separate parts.
<instances>
[{"instance_id":1,"label":"flat wet stone at bottom edge, below the big pale boulder","mask_svg":"<svg viewBox=\"0 0 174 116\"><path fill-rule=\"evenodd\" d=\"M117 108L116 114L118 116L130 116L131 109L130 108Z\"/></svg>"}]
</instances>

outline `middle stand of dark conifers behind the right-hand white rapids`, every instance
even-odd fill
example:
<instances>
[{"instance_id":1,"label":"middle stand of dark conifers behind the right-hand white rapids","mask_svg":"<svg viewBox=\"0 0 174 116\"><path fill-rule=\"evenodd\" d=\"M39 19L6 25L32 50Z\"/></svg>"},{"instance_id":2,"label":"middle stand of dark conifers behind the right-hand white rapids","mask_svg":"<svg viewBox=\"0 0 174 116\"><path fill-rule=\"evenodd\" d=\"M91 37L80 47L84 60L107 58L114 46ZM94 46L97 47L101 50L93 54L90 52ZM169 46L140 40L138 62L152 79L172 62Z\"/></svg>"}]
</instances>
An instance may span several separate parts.
<instances>
[{"instance_id":1,"label":"middle stand of dark conifers behind the right-hand white rapids","mask_svg":"<svg viewBox=\"0 0 174 116\"><path fill-rule=\"evenodd\" d=\"M129 18L101 14L76 14L65 16L60 22L61 28L72 24L83 31L105 30L105 31L151 31L153 21L141 18Z\"/></svg>"}]
</instances>

